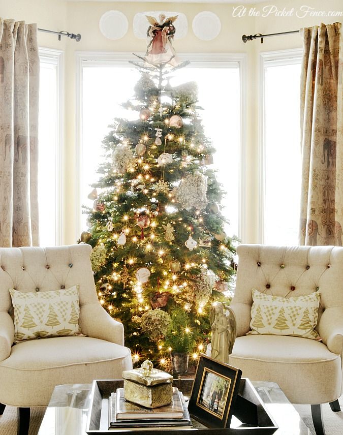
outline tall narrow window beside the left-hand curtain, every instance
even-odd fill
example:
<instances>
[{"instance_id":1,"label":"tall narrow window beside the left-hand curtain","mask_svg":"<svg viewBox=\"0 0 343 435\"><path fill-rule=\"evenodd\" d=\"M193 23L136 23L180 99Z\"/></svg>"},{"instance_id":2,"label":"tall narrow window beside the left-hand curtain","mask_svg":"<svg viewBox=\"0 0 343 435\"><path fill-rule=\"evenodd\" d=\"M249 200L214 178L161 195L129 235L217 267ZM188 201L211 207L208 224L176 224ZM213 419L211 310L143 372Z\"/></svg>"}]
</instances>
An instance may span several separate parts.
<instances>
[{"instance_id":1,"label":"tall narrow window beside the left-hand curtain","mask_svg":"<svg viewBox=\"0 0 343 435\"><path fill-rule=\"evenodd\" d=\"M41 246L61 244L61 61L59 50L40 55L38 204Z\"/></svg>"}]
</instances>

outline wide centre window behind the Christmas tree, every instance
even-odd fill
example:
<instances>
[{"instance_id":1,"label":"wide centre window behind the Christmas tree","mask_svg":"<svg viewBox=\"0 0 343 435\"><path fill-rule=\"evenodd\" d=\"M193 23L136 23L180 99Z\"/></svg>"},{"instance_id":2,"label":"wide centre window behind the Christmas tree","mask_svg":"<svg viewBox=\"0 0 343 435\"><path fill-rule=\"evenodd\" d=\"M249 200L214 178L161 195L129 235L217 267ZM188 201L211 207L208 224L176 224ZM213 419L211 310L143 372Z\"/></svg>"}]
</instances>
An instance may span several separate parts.
<instances>
[{"instance_id":1,"label":"wide centre window behind the Christmas tree","mask_svg":"<svg viewBox=\"0 0 343 435\"><path fill-rule=\"evenodd\" d=\"M199 105L205 134L212 140L216 153L213 169L217 179L228 192L222 201L223 214L230 220L229 235L242 237L241 219L242 183L241 159L244 142L242 120L242 88L244 85L244 55L190 56L191 64L175 72L172 85L186 81L198 84ZM79 106L79 171L81 184L77 213L80 216L77 238L87 228L86 215L81 214L82 205L91 207L88 198L90 185L99 178L97 168L103 161L101 141L114 117L128 117L120 104L133 94L139 72L128 63L131 55L79 55L80 106Z\"/></svg>"}]
</instances>

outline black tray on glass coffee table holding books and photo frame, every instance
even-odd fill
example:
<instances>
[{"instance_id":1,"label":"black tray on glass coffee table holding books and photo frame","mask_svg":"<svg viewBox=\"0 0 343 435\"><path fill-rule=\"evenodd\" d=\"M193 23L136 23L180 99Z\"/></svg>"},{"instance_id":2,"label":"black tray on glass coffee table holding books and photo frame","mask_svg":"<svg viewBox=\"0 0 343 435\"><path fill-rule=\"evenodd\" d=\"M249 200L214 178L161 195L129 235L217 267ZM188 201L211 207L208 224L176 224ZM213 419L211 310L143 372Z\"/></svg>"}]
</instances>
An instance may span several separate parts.
<instances>
[{"instance_id":1,"label":"black tray on glass coffee table holding books and photo frame","mask_svg":"<svg viewBox=\"0 0 343 435\"><path fill-rule=\"evenodd\" d=\"M177 387L184 395L190 395L193 379L174 379L174 387ZM155 435L159 430L156 427L137 429L108 429L108 397L117 388L123 387L122 380L95 380L90 393L90 403L86 432L89 435L108 435L113 432L132 433L133 431L144 432L144 435ZM278 428L272 416L265 408L257 391L248 379L241 379L238 396L233 414L247 426L229 429L210 429L196 427L161 428L163 435L191 435L190 431L199 431L199 435L271 435ZM252 432L254 430L254 432ZM196 434L194 434L196 435Z\"/></svg>"}]
</instances>

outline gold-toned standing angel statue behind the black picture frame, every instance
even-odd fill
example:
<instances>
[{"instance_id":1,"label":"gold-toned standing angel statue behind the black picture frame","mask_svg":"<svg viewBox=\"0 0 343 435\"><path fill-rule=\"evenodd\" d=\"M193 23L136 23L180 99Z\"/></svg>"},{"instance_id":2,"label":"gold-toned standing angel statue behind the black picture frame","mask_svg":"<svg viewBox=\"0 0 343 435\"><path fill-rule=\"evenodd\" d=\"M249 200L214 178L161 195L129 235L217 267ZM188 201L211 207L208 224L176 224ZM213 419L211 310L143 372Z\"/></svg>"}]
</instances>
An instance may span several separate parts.
<instances>
[{"instance_id":1,"label":"gold-toned standing angel statue behind the black picture frame","mask_svg":"<svg viewBox=\"0 0 343 435\"><path fill-rule=\"evenodd\" d=\"M229 363L236 339L236 317L233 309L222 303L215 303L210 310L210 324L212 329L211 357Z\"/></svg>"}]
</instances>

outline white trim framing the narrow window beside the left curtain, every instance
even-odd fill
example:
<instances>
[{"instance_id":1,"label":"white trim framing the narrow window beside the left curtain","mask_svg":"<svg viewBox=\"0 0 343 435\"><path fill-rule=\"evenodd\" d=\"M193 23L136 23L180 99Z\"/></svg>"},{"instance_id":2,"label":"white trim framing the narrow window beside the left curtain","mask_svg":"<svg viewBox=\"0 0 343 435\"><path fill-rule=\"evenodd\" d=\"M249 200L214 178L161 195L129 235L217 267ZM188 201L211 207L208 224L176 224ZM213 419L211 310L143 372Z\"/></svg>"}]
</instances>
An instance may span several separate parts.
<instances>
[{"instance_id":1,"label":"white trim framing the narrow window beside the left curtain","mask_svg":"<svg viewBox=\"0 0 343 435\"><path fill-rule=\"evenodd\" d=\"M39 47L39 58L46 63L56 66L56 246L62 244L62 230L64 228L64 177L63 158L64 158L64 52L52 48Z\"/></svg>"}]
</instances>

